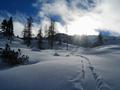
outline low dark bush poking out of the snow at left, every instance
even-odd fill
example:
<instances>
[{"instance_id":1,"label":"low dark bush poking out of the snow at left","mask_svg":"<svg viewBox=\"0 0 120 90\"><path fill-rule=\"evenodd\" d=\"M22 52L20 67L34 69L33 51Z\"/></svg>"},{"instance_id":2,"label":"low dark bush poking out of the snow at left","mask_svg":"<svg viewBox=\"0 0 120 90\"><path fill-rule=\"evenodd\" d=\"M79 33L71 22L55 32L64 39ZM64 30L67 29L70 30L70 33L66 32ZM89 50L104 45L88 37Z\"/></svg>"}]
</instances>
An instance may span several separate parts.
<instances>
[{"instance_id":1,"label":"low dark bush poking out of the snow at left","mask_svg":"<svg viewBox=\"0 0 120 90\"><path fill-rule=\"evenodd\" d=\"M21 55L21 50L18 51L10 50L10 47L6 47L1 52L2 62L10 65L25 64L28 62L29 57Z\"/></svg>"}]
</instances>

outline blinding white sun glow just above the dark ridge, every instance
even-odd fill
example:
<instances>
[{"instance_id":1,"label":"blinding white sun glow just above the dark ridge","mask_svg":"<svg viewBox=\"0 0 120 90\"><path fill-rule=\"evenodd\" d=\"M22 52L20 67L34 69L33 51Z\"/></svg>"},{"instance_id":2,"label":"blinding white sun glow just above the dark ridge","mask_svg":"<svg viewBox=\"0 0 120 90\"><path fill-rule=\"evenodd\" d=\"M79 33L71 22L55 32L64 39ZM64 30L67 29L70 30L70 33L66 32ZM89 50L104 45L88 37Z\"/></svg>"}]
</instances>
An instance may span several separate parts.
<instances>
[{"instance_id":1,"label":"blinding white sun glow just above the dark ridge","mask_svg":"<svg viewBox=\"0 0 120 90\"><path fill-rule=\"evenodd\" d=\"M102 23L88 15L77 17L64 27L57 23L58 31L69 35L98 35L95 30L100 27L102 27Z\"/></svg>"}]
</instances>

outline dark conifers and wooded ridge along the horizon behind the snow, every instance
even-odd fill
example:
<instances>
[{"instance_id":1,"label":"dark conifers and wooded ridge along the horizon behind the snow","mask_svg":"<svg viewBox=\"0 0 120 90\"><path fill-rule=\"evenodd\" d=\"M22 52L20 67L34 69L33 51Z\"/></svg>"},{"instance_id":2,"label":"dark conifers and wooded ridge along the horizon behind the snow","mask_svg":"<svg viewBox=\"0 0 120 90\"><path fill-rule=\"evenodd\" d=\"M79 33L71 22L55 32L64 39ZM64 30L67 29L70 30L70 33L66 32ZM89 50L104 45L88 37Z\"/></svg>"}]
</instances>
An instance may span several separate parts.
<instances>
[{"instance_id":1,"label":"dark conifers and wooded ridge along the horizon behind the snow","mask_svg":"<svg viewBox=\"0 0 120 90\"><path fill-rule=\"evenodd\" d=\"M9 20L4 19L1 22L1 30L2 34L5 38L7 38L10 43L14 39L14 25L13 25L13 18L10 17ZM90 36L82 35L82 36L70 36L67 34L63 34L60 32L57 32L56 30L56 21L50 19L49 26L46 25L46 27L42 27L38 30L38 33L36 36L33 36L33 25L34 19L32 17L28 17L26 19L26 23L24 23L24 30L22 30L22 39L24 44L27 45L27 47L31 47L31 43L36 38L36 47L39 49L53 49L56 42L59 43L59 45L62 45L63 43L66 43L66 48L68 50L68 44L74 44L77 46L82 47L96 47L104 44L104 38L102 34L100 33L98 36L95 37L94 41L91 41L89 39ZM35 30L37 31L37 30ZM44 47L44 41L47 40L48 47Z\"/></svg>"}]
</instances>

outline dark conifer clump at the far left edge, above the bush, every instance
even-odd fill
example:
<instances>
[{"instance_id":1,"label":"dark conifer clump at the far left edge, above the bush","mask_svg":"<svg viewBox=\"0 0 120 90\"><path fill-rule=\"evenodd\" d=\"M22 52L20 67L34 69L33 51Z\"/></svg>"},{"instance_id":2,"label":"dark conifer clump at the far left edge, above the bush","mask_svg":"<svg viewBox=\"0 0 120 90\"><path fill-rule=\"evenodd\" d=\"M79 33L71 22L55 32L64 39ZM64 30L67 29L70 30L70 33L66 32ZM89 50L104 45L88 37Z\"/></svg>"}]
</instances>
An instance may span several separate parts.
<instances>
[{"instance_id":1,"label":"dark conifer clump at the far left edge, above the bush","mask_svg":"<svg viewBox=\"0 0 120 90\"><path fill-rule=\"evenodd\" d=\"M1 23L1 29L3 32L3 36L6 37L8 40L12 40L14 36L14 28L13 28L13 19L12 17L9 20L4 19Z\"/></svg>"}]
</instances>

